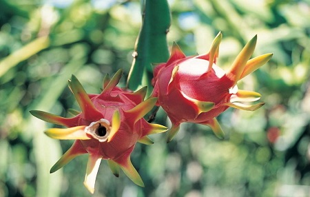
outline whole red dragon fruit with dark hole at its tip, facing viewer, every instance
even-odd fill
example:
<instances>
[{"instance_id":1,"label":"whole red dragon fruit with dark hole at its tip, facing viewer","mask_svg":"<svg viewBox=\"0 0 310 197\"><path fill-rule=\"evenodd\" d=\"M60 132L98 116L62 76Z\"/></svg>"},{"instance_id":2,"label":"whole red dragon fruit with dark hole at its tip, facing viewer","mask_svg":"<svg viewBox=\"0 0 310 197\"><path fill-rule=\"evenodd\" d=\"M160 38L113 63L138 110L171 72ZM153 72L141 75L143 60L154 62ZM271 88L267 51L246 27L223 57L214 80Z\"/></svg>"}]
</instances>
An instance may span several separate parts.
<instances>
[{"instance_id":1,"label":"whole red dragon fruit with dark hole at its tip, facing viewer","mask_svg":"<svg viewBox=\"0 0 310 197\"><path fill-rule=\"evenodd\" d=\"M102 159L107 160L115 176L122 169L136 185L143 187L143 181L131 163L130 154L137 142L152 144L147 135L167 131L167 127L147 123L143 118L157 101L157 98L143 101L145 87L136 92L116 87L122 73L122 70L118 70L112 79L107 75L101 94L87 94L78 79L72 76L68 85L81 107L81 112L75 112L72 118L30 111L43 121L68 127L47 129L46 135L60 140L75 140L52 167L51 173L76 156L89 154L84 185L91 193L94 193L96 174Z\"/></svg>"}]
</instances>

